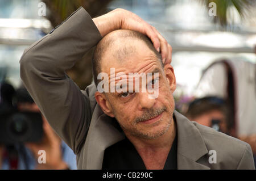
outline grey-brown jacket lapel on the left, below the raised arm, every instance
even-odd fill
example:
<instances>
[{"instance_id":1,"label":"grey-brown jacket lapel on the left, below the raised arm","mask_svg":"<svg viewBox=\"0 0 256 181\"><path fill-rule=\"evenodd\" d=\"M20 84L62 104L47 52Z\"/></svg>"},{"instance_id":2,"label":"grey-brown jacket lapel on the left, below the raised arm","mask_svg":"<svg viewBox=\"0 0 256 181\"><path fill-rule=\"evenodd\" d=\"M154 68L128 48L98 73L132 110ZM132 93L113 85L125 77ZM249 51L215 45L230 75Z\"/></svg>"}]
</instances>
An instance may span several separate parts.
<instances>
[{"instance_id":1,"label":"grey-brown jacket lapel on the left, below the raised arm","mask_svg":"<svg viewBox=\"0 0 256 181\"><path fill-rule=\"evenodd\" d=\"M97 104L85 141L85 169L100 170L105 149L124 138L117 121L105 115Z\"/></svg>"}]
</instances>

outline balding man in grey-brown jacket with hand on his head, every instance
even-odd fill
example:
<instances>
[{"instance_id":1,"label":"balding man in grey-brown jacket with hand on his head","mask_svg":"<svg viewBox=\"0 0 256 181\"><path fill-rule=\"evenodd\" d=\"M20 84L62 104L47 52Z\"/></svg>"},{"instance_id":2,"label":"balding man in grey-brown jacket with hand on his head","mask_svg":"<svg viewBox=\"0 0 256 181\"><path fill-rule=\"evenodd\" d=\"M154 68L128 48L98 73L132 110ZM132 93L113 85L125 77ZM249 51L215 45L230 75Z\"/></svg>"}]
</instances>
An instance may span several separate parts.
<instances>
[{"instance_id":1,"label":"balding man in grey-brown jacket with hand on his head","mask_svg":"<svg viewBox=\"0 0 256 181\"><path fill-rule=\"evenodd\" d=\"M80 91L65 71L95 45L94 83ZM80 8L25 50L20 75L78 169L255 169L248 144L174 110L170 62L170 45L137 15Z\"/></svg>"}]
</instances>

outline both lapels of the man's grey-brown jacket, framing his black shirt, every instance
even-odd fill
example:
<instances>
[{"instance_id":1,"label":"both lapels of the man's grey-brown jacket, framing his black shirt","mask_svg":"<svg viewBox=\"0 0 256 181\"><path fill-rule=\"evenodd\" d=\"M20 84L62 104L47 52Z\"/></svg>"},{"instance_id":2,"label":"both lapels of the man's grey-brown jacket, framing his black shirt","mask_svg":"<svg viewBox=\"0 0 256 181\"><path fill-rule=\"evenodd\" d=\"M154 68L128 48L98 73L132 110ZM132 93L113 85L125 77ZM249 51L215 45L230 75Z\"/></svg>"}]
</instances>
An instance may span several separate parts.
<instances>
[{"instance_id":1,"label":"both lapels of the man's grey-brown jacket, framing his black shirt","mask_svg":"<svg viewBox=\"0 0 256 181\"><path fill-rule=\"evenodd\" d=\"M99 116L100 115L100 116ZM199 130L186 117L174 111L177 125L177 169L209 169L196 161L208 153ZM117 121L96 105L85 142L85 169L101 169L104 150L125 138Z\"/></svg>"}]
</instances>

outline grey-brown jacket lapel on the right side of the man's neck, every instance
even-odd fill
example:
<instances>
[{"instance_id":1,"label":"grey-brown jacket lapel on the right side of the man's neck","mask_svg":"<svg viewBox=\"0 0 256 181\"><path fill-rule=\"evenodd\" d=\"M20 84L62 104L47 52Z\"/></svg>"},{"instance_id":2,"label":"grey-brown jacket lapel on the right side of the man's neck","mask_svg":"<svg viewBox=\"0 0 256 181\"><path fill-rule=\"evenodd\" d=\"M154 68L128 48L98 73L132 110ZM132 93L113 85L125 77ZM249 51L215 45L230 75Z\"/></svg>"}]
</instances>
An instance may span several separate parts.
<instances>
[{"instance_id":1,"label":"grey-brown jacket lapel on the right side of the man's neck","mask_svg":"<svg viewBox=\"0 0 256 181\"><path fill-rule=\"evenodd\" d=\"M199 130L186 117L174 111L177 125L177 169L210 169L197 161L208 154Z\"/></svg>"}]
</instances>

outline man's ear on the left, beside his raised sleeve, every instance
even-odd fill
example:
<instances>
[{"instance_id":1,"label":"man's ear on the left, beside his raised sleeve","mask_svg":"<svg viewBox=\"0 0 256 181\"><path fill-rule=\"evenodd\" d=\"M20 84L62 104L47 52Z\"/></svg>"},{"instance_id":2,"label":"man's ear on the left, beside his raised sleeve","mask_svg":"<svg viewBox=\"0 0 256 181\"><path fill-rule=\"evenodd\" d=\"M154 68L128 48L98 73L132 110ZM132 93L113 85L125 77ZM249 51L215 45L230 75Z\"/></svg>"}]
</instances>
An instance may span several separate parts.
<instances>
[{"instance_id":1,"label":"man's ear on the left, beside his raised sleeve","mask_svg":"<svg viewBox=\"0 0 256 181\"><path fill-rule=\"evenodd\" d=\"M112 112L112 107L109 103L109 100L106 98L106 95L104 93L95 92L95 99L98 103L98 105L101 107L101 110L108 116L114 117L114 114Z\"/></svg>"}]
</instances>

